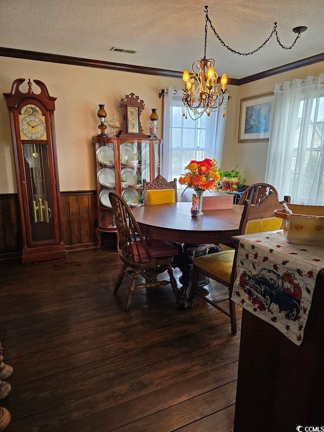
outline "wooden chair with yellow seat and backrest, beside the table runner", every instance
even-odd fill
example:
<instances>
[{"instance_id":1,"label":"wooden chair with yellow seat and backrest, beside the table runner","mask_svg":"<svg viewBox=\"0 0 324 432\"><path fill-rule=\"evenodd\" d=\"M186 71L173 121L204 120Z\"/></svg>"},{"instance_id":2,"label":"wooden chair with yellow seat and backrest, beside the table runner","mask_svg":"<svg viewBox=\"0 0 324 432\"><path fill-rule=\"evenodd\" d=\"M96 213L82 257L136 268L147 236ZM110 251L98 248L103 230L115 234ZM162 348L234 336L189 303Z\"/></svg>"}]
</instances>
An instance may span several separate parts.
<instances>
[{"instance_id":1,"label":"wooden chair with yellow seat and backrest, beside the table runner","mask_svg":"<svg viewBox=\"0 0 324 432\"><path fill-rule=\"evenodd\" d=\"M281 220L274 216L274 210L281 208L277 195L271 193L262 198L257 205L252 205L251 201L243 203L244 209L239 225L239 234L252 234L255 232L273 231L280 229ZM235 304L231 300L233 285L236 279L236 256L238 245L235 249L216 252L194 258L191 271L191 290L189 299L195 295L205 300L207 303L216 307L230 318L231 332L236 334L236 315ZM197 278L199 274L204 274L228 288L228 296L221 297L220 300L212 300L205 294L197 291ZM219 303L227 300L229 311Z\"/></svg>"}]
</instances>

